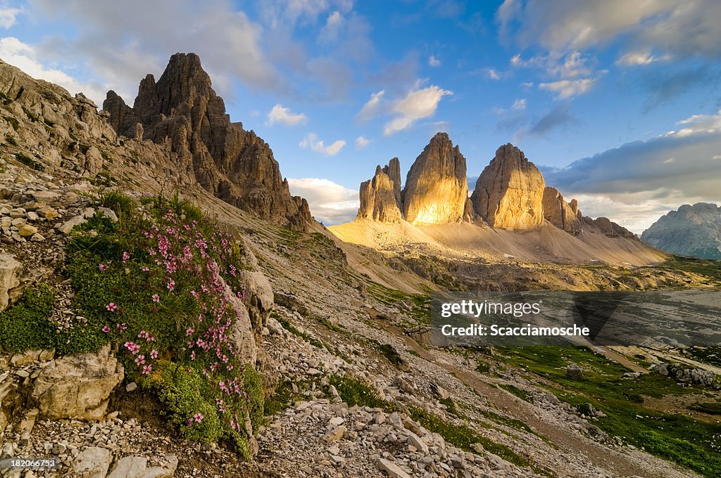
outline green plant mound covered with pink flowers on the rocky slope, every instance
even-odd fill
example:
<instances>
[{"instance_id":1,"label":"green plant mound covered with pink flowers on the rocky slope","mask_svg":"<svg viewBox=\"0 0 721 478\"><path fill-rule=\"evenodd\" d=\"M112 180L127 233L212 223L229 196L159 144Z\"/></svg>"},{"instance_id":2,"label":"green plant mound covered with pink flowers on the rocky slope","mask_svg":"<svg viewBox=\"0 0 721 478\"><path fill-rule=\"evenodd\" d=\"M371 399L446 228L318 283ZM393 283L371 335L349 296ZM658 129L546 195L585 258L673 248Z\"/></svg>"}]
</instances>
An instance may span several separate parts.
<instances>
[{"instance_id":1,"label":"green plant mound covered with pink flowers on the rocky slope","mask_svg":"<svg viewBox=\"0 0 721 478\"><path fill-rule=\"evenodd\" d=\"M88 321L71 342L123 344L127 376L157 394L182 436L247 456L245 423L262 422L263 390L229 339L242 305L228 290L244 299L240 246L177 195L146 198L143 212L119 192L99 202L119 220L95 215L68 243L73 307Z\"/></svg>"}]
</instances>

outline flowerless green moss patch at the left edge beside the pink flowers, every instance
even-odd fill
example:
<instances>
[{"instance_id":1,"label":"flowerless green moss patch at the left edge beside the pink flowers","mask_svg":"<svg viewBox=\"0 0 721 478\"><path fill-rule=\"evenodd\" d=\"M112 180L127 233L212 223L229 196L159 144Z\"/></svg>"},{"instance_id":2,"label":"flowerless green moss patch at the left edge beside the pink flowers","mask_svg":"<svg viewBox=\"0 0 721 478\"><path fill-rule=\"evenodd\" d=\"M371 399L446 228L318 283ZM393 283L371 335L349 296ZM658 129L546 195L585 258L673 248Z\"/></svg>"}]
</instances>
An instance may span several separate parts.
<instances>
[{"instance_id":1,"label":"flowerless green moss patch at the left edge beside the pink flowers","mask_svg":"<svg viewBox=\"0 0 721 478\"><path fill-rule=\"evenodd\" d=\"M48 321L55 296L41 284L25 289L14 305L0 314L0 347L10 352L53 348L56 328Z\"/></svg>"}]
</instances>

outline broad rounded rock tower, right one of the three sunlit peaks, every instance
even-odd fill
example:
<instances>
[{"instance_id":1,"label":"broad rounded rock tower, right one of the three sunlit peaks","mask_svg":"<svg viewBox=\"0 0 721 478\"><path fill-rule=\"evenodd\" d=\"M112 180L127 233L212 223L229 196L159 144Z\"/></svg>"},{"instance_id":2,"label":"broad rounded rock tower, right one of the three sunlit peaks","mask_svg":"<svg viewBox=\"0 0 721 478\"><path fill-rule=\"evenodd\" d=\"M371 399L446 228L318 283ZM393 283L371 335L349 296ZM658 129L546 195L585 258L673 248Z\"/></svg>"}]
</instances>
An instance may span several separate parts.
<instances>
[{"instance_id":1,"label":"broad rounded rock tower, right one of the three sunlit peaks","mask_svg":"<svg viewBox=\"0 0 721 478\"><path fill-rule=\"evenodd\" d=\"M476 213L491 227L536 229L544 221L541 171L516 146L496 150L471 195Z\"/></svg>"}]
</instances>

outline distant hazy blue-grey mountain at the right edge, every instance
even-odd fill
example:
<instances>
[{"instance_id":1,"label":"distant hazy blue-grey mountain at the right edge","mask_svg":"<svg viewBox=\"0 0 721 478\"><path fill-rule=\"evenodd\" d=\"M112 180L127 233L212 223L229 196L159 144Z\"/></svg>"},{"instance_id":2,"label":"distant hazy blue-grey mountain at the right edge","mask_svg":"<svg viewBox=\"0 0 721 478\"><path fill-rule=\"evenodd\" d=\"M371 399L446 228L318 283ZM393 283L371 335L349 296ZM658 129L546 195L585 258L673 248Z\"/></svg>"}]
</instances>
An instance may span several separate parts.
<instances>
[{"instance_id":1,"label":"distant hazy blue-grey mountain at the right edge","mask_svg":"<svg viewBox=\"0 0 721 478\"><path fill-rule=\"evenodd\" d=\"M641 240L675 254L721 259L721 207L684 204L654 222Z\"/></svg>"}]
</instances>

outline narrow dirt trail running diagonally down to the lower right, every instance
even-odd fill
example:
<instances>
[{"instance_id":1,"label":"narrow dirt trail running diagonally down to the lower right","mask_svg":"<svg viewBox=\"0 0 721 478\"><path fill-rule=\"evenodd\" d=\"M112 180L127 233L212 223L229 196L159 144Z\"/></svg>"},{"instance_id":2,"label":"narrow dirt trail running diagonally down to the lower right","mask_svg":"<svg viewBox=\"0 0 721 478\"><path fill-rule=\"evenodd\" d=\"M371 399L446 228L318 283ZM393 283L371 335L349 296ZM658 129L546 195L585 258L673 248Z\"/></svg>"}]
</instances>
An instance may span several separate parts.
<instances>
[{"instance_id":1,"label":"narrow dirt trail running diagonally down to the lower right","mask_svg":"<svg viewBox=\"0 0 721 478\"><path fill-rule=\"evenodd\" d=\"M524 402L503 389L498 389L494 384L486 382L482 376L479 376L479 374L459 369L458 367L444 363L443 361L438 361L433 353L430 353L428 350L420 346L412 338L404 335L402 330L399 330L399 328L394 325L389 325L389 323L381 320L377 320L376 323L405 341L408 347L412 348L413 351L425 358L425 360L443 367L443 369L446 369L449 373L454 374L454 376L461 380L461 382L464 382L467 386L472 387L479 394L482 394L482 396L488 397L495 406L505 410L510 416L525 422L528 426L535 430L536 433L539 433L539 435L547 438L560 450L576 451L577 453L585 456L599 468L605 469L622 477L658 478L662 476L696 476L690 472L688 474L686 474L686 472L678 472L673 464L668 464L668 472L671 472L671 469L673 469L671 474L660 474L662 473L662 470L655 467L652 468L650 465L648 468L646 466L642 466L642 464L637 461L629 459L629 457L622 451L614 451L611 448L603 446L601 443L580 436L578 433L573 433L567 428L555 423L545 422L541 420L538 410L534 407L534 405Z\"/></svg>"}]
</instances>

